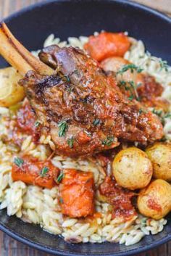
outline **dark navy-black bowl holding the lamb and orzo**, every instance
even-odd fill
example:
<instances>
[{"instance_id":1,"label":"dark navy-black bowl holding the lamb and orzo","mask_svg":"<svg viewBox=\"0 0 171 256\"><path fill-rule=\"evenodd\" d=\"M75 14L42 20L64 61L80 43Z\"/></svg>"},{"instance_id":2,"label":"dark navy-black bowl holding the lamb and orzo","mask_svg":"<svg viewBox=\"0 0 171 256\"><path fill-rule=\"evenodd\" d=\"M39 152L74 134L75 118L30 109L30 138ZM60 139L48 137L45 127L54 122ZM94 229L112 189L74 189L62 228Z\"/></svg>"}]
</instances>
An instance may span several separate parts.
<instances>
[{"instance_id":1,"label":"dark navy-black bowl holding the lamb and orzo","mask_svg":"<svg viewBox=\"0 0 171 256\"><path fill-rule=\"evenodd\" d=\"M102 29L129 31L145 42L155 56L171 64L171 20L147 7L130 1L72 0L45 1L10 16L5 20L14 35L30 50L40 49L50 33L60 38L88 36ZM0 59L0 66L7 65ZM39 226L23 223L0 211L0 229L14 239L54 255L133 255L159 246L171 239L171 223L155 236L146 236L130 247L120 244L67 244L59 236Z\"/></svg>"}]
</instances>

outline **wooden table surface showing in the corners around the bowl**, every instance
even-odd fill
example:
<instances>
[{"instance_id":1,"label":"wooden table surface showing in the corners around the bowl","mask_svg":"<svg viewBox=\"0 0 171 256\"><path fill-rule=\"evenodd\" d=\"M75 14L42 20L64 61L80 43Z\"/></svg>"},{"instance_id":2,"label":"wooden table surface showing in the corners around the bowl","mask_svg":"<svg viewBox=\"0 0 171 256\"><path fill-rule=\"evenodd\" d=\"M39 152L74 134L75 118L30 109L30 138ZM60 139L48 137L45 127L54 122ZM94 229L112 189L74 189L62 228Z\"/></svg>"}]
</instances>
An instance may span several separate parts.
<instances>
[{"instance_id":1,"label":"wooden table surface showing in the corners around the bowl","mask_svg":"<svg viewBox=\"0 0 171 256\"><path fill-rule=\"evenodd\" d=\"M171 16L171 0L136 0L141 4L159 9ZM0 0L0 20L12 12L22 9L30 4L41 2L41 0ZM0 256L49 256L46 253L32 249L25 244L11 239L0 231ZM142 253L137 256L171 256L171 241L157 249Z\"/></svg>"}]
</instances>

